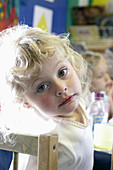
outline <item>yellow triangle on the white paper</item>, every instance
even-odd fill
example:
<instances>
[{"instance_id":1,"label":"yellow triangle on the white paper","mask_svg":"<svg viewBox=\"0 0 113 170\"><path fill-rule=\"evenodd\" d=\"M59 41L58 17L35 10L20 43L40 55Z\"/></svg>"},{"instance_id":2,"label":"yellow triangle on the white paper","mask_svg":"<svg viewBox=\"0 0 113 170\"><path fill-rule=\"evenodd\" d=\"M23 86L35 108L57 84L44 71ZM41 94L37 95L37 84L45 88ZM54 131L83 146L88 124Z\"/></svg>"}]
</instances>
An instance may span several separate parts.
<instances>
[{"instance_id":1,"label":"yellow triangle on the white paper","mask_svg":"<svg viewBox=\"0 0 113 170\"><path fill-rule=\"evenodd\" d=\"M41 17L37 27L48 32L48 28L47 28L47 24L46 24L46 19L45 19L45 14L42 15L42 17Z\"/></svg>"}]
</instances>

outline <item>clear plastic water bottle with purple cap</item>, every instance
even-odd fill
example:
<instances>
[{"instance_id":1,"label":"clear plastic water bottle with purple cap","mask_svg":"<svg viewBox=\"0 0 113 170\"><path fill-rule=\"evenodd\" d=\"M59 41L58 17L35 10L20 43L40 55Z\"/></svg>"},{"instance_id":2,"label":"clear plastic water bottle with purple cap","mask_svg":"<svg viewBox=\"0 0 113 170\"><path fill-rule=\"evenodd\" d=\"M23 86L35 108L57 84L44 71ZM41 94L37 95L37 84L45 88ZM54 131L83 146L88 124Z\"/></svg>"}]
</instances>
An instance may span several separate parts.
<instances>
[{"instance_id":1,"label":"clear plastic water bottle with purple cap","mask_svg":"<svg viewBox=\"0 0 113 170\"><path fill-rule=\"evenodd\" d=\"M87 109L92 131L94 131L95 123L107 123L108 120L108 113L104 104L104 94L93 93L93 95L93 101Z\"/></svg>"}]
</instances>

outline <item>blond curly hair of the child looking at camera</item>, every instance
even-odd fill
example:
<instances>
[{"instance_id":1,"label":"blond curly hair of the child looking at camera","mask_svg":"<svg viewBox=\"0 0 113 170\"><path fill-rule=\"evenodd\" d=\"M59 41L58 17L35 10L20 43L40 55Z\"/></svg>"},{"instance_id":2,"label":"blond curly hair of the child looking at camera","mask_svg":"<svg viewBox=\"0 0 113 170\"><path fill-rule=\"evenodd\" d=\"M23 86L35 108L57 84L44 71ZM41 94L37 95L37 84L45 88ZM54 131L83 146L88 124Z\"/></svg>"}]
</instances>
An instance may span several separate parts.
<instances>
[{"instance_id":1,"label":"blond curly hair of the child looking at camera","mask_svg":"<svg viewBox=\"0 0 113 170\"><path fill-rule=\"evenodd\" d=\"M89 89L87 63L71 48L68 34L56 35L39 28L17 25L1 32L0 38L1 57L4 60L1 64L17 99L26 92L25 81L38 76L43 60L50 57L50 53L67 58L80 79L83 92Z\"/></svg>"}]
</instances>

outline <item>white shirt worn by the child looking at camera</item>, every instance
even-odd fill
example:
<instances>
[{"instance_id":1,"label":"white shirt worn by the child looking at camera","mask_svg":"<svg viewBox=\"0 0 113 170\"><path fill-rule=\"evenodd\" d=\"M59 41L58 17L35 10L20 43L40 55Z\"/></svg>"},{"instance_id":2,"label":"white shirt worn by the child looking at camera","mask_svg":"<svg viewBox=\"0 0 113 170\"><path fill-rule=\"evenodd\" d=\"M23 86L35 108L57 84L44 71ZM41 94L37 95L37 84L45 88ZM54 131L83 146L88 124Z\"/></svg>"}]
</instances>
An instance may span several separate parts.
<instances>
[{"instance_id":1,"label":"white shirt worn by the child looking at camera","mask_svg":"<svg viewBox=\"0 0 113 170\"><path fill-rule=\"evenodd\" d=\"M49 133L58 134L59 140L58 170L93 169L92 131L81 104L79 107L84 120L83 124L63 118L52 120L54 129L50 130ZM37 170L37 158L35 156L20 154L19 160L19 170Z\"/></svg>"}]
</instances>

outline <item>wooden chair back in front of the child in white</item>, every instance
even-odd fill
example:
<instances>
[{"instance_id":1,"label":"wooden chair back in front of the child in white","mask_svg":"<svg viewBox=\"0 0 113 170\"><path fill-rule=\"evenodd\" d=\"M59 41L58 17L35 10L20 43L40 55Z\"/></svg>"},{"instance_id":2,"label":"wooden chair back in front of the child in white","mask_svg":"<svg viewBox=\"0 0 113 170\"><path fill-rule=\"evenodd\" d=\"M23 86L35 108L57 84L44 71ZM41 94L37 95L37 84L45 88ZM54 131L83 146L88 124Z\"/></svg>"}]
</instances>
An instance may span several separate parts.
<instances>
[{"instance_id":1,"label":"wooden chair back in front of the child in white","mask_svg":"<svg viewBox=\"0 0 113 170\"><path fill-rule=\"evenodd\" d=\"M38 156L38 170L57 170L58 135L30 136L11 133L6 136L8 140L5 142L1 142L2 137L3 133L0 132L0 149L13 152L13 170L18 170L19 153Z\"/></svg>"}]
</instances>

